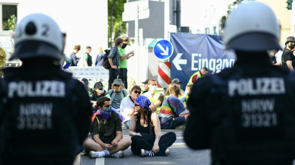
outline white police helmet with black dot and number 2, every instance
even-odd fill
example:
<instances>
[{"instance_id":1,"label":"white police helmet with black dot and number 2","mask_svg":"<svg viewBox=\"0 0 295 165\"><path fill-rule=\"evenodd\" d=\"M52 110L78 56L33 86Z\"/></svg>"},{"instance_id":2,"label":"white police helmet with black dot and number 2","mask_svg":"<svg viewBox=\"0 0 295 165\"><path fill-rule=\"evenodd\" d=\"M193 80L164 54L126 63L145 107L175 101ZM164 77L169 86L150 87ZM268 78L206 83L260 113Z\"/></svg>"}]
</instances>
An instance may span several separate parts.
<instances>
[{"instance_id":1,"label":"white police helmet with black dot and number 2","mask_svg":"<svg viewBox=\"0 0 295 165\"><path fill-rule=\"evenodd\" d=\"M17 25L15 52L11 59L49 58L61 60L65 46L65 34L47 15L31 14Z\"/></svg>"}]
</instances>

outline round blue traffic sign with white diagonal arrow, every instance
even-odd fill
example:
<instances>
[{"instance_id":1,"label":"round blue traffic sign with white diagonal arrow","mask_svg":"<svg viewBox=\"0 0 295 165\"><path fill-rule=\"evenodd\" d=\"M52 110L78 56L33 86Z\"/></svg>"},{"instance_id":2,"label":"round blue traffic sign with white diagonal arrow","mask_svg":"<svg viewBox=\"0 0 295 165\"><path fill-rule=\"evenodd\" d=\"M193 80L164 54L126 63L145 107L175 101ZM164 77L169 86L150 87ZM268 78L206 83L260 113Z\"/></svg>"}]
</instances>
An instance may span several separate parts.
<instances>
[{"instance_id":1,"label":"round blue traffic sign with white diagonal arrow","mask_svg":"<svg viewBox=\"0 0 295 165\"><path fill-rule=\"evenodd\" d=\"M154 54L158 59L169 59L173 53L173 46L168 40L160 40L154 45Z\"/></svg>"}]
</instances>

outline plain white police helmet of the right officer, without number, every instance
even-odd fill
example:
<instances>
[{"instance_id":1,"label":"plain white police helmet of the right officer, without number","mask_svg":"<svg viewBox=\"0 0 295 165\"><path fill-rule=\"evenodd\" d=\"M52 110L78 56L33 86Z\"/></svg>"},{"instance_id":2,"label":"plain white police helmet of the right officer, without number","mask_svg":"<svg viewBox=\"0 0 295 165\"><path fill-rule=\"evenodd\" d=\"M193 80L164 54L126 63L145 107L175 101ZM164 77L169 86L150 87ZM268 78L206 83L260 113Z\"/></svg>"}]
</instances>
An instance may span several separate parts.
<instances>
[{"instance_id":1,"label":"plain white police helmet of the right officer, without number","mask_svg":"<svg viewBox=\"0 0 295 165\"><path fill-rule=\"evenodd\" d=\"M239 3L225 22L223 42L226 49L279 50L279 38L280 26L275 13L261 2Z\"/></svg>"}]
</instances>

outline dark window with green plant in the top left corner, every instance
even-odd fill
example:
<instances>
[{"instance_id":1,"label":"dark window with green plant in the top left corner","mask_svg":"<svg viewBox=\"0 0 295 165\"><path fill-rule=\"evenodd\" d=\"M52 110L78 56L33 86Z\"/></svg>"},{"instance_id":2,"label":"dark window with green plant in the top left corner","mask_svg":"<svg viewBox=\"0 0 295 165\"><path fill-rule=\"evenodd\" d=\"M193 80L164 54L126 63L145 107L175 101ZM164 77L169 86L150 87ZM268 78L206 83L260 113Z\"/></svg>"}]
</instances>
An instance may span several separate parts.
<instances>
[{"instance_id":1,"label":"dark window with green plant in the top left corner","mask_svg":"<svg viewBox=\"0 0 295 165\"><path fill-rule=\"evenodd\" d=\"M0 3L2 30L14 30L17 18L17 4Z\"/></svg>"}]
</instances>

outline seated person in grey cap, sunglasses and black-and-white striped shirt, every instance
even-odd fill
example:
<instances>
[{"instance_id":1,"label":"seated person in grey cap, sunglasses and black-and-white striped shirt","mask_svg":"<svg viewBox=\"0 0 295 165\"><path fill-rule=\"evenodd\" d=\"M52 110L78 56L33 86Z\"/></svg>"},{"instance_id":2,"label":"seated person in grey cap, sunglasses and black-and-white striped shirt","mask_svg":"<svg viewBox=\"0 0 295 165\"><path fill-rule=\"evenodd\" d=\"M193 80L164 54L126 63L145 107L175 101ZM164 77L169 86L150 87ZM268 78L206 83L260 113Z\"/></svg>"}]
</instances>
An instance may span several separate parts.
<instances>
[{"instance_id":1,"label":"seated person in grey cap, sunglasses and black-and-white striped shirt","mask_svg":"<svg viewBox=\"0 0 295 165\"><path fill-rule=\"evenodd\" d=\"M115 79L113 85L115 89L110 89L108 93L111 96L112 107L120 111L121 101L128 95L128 90L121 89L124 85L121 79Z\"/></svg>"}]
</instances>

